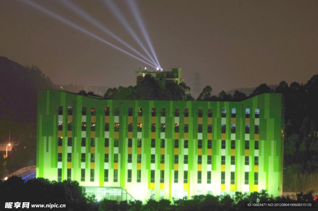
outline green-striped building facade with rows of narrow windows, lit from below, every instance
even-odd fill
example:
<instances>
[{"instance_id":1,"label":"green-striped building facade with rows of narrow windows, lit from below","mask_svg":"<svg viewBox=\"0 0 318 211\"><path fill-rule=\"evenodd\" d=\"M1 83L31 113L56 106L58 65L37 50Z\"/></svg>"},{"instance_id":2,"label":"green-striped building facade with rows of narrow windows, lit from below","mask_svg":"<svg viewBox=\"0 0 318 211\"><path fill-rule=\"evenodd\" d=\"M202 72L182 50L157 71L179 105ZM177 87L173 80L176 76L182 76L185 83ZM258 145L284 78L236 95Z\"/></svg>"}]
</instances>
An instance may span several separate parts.
<instances>
[{"instance_id":1,"label":"green-striped building facade with rows of narrow windows, lit from below","mask_svg":"<svg viewBox=\"0 0 318 211\"><path fill-rule=\"evenodd\" d=\"M282 193L281 94L203 102L42 90L37 130L37 177L98 187L98 199L101 187L121 187L143 201Z\"/></svg>"}]
</instances>

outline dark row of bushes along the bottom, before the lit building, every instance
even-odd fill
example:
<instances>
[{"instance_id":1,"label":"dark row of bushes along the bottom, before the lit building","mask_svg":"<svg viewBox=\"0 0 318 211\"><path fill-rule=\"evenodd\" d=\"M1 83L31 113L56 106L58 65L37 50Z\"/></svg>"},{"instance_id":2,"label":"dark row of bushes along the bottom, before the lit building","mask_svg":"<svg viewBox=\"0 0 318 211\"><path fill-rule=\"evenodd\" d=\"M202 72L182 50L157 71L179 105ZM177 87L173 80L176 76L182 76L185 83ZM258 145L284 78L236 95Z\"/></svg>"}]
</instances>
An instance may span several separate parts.
<instances>
[{"instance_id":1,"label":"dark row of bushes along the bottom, before the lit building","mask_svg":"<svg viewBox=\"0 0 318 211\"><path fill-rule=\"evenodd\" d=\"M294 201L289 198L273 198L266 190L252 192L250 195L235 192L233 196L225 195L196 195L187 199L162 199L155 201L149 199L142 201L102 200L96 201L94 197L86 197L85 188L79 186L77 181L64 180L62 182L37 178L25 182L18 177L10 177L0 181L0 207L5 202L30 202L30 204L66 204L66 208L56 210L98 210L98 211L138 211L138 210L245 210L245 202L287 202ZM314 201L311 193L297 194L296 201ZM42 209L40 209L42 210ZM54 209L53 209L54 210ZM254 210L249 208L248 210Z\"/></svg>"}]
</instances>

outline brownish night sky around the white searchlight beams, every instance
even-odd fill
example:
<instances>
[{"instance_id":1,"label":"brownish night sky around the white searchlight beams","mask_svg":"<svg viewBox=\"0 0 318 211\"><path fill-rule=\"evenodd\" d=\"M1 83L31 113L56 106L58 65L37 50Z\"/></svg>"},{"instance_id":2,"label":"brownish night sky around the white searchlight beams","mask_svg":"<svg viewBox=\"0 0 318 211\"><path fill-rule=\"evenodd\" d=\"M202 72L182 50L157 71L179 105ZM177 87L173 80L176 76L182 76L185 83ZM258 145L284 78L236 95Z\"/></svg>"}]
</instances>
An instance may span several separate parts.
<instances>
[{"instance_id":1,"label":"brownish night sky around the white searchlight beams","mask_svg":"<svg viewBox=\"0 0 318 211\"><path fill-rule=\"evenodd\" d=\"M122 47L59 1L34 2ZM114 2L142 39L126 2ZM143 53L106 4L73 3ZM196 72L201 90L210 85L213 94L282 80L306 83L318 73L316 0L143 0L137 5L163 70L182 68L191 88ZM36 65L63 85L135 85L135 71L149 67L20 0L0 1L0 56Z\"/></svg>"}]
</instances>

